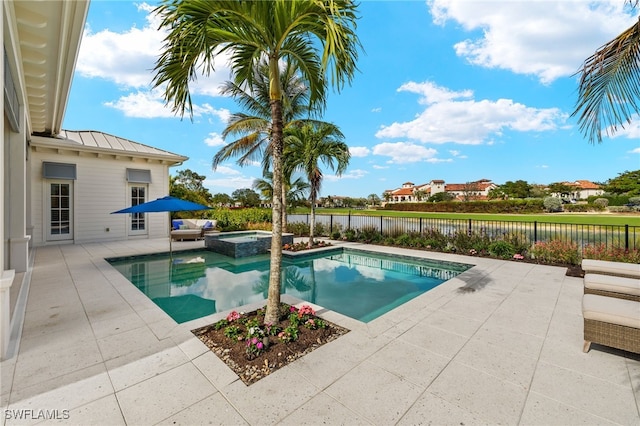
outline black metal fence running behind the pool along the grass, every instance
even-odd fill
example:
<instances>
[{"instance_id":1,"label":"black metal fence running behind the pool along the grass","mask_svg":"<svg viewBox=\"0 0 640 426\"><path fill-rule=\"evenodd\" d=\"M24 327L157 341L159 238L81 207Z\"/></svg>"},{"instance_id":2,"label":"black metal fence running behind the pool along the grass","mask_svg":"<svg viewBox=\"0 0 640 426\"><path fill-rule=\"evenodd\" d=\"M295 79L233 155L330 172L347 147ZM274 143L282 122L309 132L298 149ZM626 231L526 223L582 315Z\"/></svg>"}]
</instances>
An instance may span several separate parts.
<instances>
[{"instance_id":1,"label":"black metal fence running behind the pool along the grass","mask_svg":"<svg viewBox=\"0 0 640 426\"><path fill-rule=\"evenodd\" d=\"M290 214L288 222L309 224L308 214ZM550 240L573 241L580 249L587 245L604 245L625 250L640 249L640 226L587 225L554 222L515 222L506 220L439 219L392 216L316 214L316 224L321 224L325 234L335 231L375 230L383 236L396 237L402 234L437 230L443 235L453 236L466 232L499 239L507 234L519 234L530 244Z\"/></svg>"}]
</instances>

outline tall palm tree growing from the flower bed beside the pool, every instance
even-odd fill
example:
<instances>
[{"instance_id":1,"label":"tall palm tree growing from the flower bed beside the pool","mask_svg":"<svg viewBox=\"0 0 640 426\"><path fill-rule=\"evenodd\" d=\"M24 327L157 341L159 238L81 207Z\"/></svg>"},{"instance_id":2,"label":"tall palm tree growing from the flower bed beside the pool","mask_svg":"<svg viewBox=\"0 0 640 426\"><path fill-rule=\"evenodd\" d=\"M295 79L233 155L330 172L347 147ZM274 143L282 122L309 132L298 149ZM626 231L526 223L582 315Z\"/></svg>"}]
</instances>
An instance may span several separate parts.
<instances>
[{"instance_id":1,"label":"tall palm tree growing from the flower bed beside the pool","mask_svg":"<svg viewBox=\"0 0 640 426\"><path fill-rule=\"evenodd\" d=\"M252 89L260 61L269 63L270 152L273 171L273 235L269 297L264 321L276 324L282 269L283 93L280 61L300 70L310 109L322 110L330 82L340 90L356 71L360 42L351 0L163 0L156 12L167 30L154 71L172 110L193 116L189 84L213 71L214 59L230 55L234 82ZM325 78L325 73L329 74Z\"/></svg>"}]
</instances>

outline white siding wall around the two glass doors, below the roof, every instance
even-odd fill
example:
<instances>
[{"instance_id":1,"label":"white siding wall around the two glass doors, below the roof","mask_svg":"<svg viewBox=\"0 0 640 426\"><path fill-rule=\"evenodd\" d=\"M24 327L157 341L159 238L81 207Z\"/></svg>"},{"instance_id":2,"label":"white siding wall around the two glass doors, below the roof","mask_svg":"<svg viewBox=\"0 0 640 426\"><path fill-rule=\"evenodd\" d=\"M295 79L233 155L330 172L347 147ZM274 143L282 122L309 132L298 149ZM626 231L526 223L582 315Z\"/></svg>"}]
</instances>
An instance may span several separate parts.
<instances>
[{"instance_id":1,"label":"white siding wall around the two glass doors, below the roof","mask_svg":"<svg viewBox=\"0 0 640 426\"><path fill-rule=\"evenodd\" d=\"M168 237L169 219L165 213L147 215L147 234L129 236L128 215L111 212L130 206L126 169L151 170L147 201L168 195L169 172L166 165L147 162L143 159L116 160L97 157L95 154L56 154L35 151L31 157L33 244L46 244L47 214L42 179L42 162L76 164L77 179L73 182L73 229L74 242L99 242L126 240L128 238ZM107 228L109 231L107 231Z\"/></svg>"}]
</instances>

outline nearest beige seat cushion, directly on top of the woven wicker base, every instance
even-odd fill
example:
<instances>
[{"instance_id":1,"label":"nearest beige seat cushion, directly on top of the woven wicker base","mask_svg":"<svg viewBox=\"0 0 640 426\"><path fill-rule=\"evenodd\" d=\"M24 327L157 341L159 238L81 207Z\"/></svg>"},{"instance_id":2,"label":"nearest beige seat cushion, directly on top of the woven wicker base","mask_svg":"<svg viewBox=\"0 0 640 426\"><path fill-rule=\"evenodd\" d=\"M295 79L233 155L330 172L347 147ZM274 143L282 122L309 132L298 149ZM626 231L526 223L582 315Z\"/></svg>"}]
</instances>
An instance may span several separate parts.
<instances>
[{"instance_id":1,"label":"nearest beige seat cushion, directly on top of the woven wicker base","mask_svg":"<svg viewBox=\"0 0 640 426\"><path fill-rule=\"evenodd\" d=\"M640 302L632 300L585 294L582 298L582 315L585 320L640 329Z\"/></svg>"}]
</instances>

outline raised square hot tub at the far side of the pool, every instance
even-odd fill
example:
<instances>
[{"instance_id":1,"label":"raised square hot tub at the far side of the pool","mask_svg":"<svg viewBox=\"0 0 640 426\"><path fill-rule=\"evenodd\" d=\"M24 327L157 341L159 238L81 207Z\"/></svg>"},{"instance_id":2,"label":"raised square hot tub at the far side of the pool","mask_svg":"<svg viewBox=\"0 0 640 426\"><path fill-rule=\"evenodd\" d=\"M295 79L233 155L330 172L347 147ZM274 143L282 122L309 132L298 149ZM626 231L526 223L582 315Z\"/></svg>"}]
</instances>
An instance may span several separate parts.
<instances>
[{"instance_id":1,"label":"raised square hot tub at the far side of the pool","mask_svg":"<svg viewBox=\"0 0 640 426\"><path fill-rule=\"evenodd\" d=\"M282 234L282 244L293 244L293 234ZM271 248L269 231L220 232L204 236L207 250L229 257L247 257L264 254Z\"/></svg>"}]
</instances>

